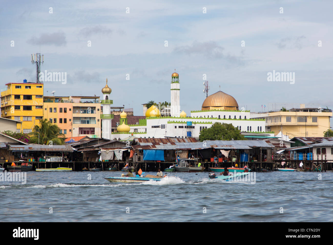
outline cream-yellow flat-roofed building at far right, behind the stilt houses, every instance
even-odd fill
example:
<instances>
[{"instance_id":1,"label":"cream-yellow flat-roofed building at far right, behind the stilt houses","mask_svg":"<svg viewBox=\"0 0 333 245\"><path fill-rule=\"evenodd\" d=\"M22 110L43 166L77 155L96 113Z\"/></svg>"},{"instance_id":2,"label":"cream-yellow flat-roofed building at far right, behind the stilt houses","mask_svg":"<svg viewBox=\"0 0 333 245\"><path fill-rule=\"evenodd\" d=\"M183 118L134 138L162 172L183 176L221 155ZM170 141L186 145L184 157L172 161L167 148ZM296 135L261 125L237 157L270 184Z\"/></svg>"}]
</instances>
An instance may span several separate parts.
<instances>
[{"instance_id":1,"label":"cream-yellow flat-roofed building at far right, behind the stilt houses","mask_svg":"<svg viewBox=\"0 0 333 245\"><path fill-rule=\"evenodd\" d=\"M302 107L302 105L301 105ZM298 108L251 114L251 118L264 118L265 130L277 135L293 137L323 137L324 131L330 129L332 110L318 108Z\"/></svg>"}]
</instances>

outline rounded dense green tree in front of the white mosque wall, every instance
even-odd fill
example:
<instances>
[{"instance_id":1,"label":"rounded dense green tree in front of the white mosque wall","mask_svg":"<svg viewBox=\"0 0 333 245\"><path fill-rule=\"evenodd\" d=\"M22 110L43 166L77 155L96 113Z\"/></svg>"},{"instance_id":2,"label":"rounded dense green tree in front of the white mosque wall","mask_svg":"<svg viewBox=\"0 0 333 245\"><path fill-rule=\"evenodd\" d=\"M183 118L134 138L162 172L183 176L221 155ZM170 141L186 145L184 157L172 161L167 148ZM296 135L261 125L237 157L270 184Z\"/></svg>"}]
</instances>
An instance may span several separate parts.
<instances>
[{"instance_id":1,"label":"rounded dense green tree in front of the white mosque wall","mask_svg":"<svg viewBox=\"0 0 333 245\"><path fill-rule=\"evenodd\" d=\"M246 140L231 123L214 123L210 128L202 129L199 140Z\"/></svg>"}]
</instances>

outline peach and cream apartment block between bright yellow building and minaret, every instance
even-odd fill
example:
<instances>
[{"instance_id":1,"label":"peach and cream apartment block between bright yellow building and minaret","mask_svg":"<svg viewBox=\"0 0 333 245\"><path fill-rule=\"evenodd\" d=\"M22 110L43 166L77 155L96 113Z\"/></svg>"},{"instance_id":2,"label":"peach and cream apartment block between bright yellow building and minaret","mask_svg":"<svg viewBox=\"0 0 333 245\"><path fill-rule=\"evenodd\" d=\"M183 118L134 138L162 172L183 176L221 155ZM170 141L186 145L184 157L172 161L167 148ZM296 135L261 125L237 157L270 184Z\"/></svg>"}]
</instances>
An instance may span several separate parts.
<instances>
[{"instance_id":1,"label":"peach and cream apartment block between bright yellow building and minaret","mask_svg":"<svg viewBox=\"0 0 333 245\"><path fill-rule=\"evenodd\" d=\"M99 96L45 96L43 111L66 137L101 137Z\"/></svg>"}]
</instances>

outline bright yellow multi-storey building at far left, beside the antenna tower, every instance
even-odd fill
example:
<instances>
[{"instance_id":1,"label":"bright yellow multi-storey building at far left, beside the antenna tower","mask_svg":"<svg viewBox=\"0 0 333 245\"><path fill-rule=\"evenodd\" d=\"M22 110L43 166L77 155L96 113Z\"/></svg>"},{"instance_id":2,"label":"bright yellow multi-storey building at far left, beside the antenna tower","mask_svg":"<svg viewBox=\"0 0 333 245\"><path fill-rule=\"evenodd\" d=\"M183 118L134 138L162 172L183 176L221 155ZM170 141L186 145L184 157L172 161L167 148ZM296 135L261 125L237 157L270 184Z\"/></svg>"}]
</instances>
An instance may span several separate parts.
<instances>
[{"instance_id":1,"label":"bright yellow multi-storey building at far left, beside the antenna tower","mask_svg":"<svg viewBox=\"0 0 333 245\"><path fill-rule=\"evenodd\" d=\"M1 117L21 121L16 131L30 133L43 119L43 83L7 83L1 89Z\"/></svg>"}]
</instances>

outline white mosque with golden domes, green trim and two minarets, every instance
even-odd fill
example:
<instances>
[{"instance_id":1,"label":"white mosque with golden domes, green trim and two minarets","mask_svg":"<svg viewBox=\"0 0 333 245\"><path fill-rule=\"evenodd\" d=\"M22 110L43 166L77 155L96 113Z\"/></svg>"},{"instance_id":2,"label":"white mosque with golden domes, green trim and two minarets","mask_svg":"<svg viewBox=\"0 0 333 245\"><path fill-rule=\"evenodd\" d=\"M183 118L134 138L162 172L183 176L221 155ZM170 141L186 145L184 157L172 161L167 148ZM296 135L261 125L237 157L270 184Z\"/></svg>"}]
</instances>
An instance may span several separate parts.
<instances>
[{"instance_id":1,"label":"white mosque with golden domes, green trim and two minarets","mask_svg":"<svg viewBox=\"0 0 333 245\"><path fill-rule=\"evenodd\" d=\"M222 91L209 95L203 101L201 110L191 111L190 116L187 116L183 110L180 112L179 74L174 72L171 75L171 106L163 109L168 110L170 116L162 116L161 110L153 105L146 111L146 118L139 119L139 123L128 125L127 114L123 111L120 114L117 132L112 132L111 123L114 117L110 110L112 104L112 100L109 99L111 91L108 84L102 89L102 137L106 139L199 137L202 129L211 127L215 122L231 123L240 131L265 131L264 119L251 119L250 111L239 110L235 98Z\"/></svg>"}]
</instances>

